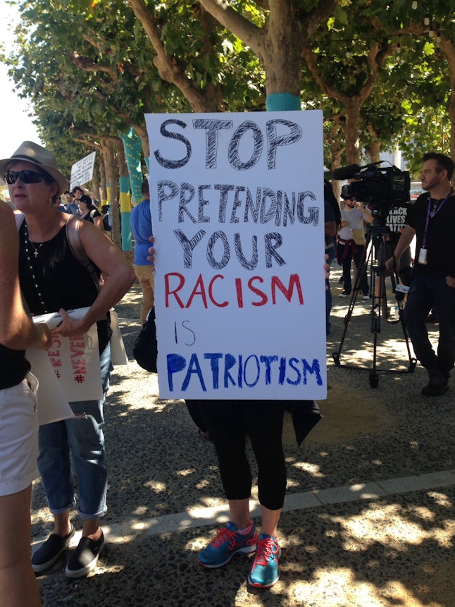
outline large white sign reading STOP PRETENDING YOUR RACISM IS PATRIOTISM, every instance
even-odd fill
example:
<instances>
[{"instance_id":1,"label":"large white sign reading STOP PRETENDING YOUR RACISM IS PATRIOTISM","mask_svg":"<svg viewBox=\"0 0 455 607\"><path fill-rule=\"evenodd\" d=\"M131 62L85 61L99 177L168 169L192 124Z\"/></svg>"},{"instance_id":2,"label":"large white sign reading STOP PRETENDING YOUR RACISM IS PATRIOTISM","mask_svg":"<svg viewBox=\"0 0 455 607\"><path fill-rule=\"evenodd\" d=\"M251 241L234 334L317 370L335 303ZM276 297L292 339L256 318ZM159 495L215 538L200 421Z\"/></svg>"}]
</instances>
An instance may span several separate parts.
<instances>
[{"instance_id":1,"label":"large white sign reading STOP PRETENDING YOUR RACISM IS PATRIOTISM","mask_svg":"<svg viewBox=\"0 0 455 607\"><path fill-rule=\"evenodd\" d=\"M326 398L322 112L146 121L160 397Z\"/></svg>"}]
</instances>

